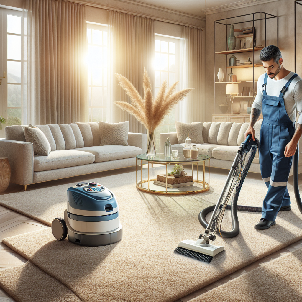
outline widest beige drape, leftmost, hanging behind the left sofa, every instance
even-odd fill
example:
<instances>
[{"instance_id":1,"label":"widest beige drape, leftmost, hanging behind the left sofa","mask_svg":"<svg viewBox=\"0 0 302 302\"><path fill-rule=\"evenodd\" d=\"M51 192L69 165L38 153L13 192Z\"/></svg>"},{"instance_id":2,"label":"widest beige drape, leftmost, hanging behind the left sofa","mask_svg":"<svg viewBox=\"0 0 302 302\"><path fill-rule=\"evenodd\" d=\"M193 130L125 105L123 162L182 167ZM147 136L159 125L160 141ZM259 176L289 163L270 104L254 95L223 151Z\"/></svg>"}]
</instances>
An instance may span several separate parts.
<instances>
[{"instance_id":1,"label":"widest beige drape, leftmost, hanging behind the left sofa","mask_svg":"<svg viewBox=\"0 0 302 302\"><path fill-rule=\"evenodd\" d=\"M26 11L28 123L87 121L85 6L27 0Z\"/></svg>"}]
</instances>

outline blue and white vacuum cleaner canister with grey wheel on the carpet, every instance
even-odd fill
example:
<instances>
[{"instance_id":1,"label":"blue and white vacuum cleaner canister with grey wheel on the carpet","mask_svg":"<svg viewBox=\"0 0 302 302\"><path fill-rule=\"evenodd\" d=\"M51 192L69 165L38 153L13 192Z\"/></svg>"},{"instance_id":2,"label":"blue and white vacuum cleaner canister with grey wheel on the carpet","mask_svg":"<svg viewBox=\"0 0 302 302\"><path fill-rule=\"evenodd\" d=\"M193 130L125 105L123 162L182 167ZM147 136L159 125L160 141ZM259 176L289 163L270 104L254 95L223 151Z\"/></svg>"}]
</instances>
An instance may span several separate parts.
<instances>
[{"instance_id":1,"label":"blue and white vacuum cleaner canister with grey wheel on the carpet","mask_svg":"<svg viewBox=\"0 0 302 302\"><path fill-rule=\"evenodd\" d=\"M113 192L96 182L80 182L67 190L64 219L51 224L57 240L82 246L104 246L122 239L117 200Z\"/></svg>"}]
</instances>

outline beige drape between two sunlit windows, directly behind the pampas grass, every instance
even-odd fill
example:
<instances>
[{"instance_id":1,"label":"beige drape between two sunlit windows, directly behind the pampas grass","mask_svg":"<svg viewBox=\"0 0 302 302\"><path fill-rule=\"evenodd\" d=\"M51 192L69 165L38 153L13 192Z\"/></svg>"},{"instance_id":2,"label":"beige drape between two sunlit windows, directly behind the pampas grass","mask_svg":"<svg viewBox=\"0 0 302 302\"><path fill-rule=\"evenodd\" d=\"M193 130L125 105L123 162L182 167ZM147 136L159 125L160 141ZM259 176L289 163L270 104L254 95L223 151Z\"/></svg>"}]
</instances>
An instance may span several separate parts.
<instances>
[{"instance_id":1,"label":"beige drape between two sunlit windows, directly behind the pampas grass","mask_svg":"<svg viewBox=\"0 0 302 302\"><path fill-rule=\"evenodd\" d=\"M125 76L143 97L143 72L146 68L154 81L153 57L155 54L154 20L133 16L130 14L109 12L109 54L110 56L110 117L111 122L129 120L129 132L146 133L145 127L135 117L122 111L113 104L114 101L130 99L114 76L119 73ZM154 93L154 92L153 92Z\"/></svg>"}]
</instances>

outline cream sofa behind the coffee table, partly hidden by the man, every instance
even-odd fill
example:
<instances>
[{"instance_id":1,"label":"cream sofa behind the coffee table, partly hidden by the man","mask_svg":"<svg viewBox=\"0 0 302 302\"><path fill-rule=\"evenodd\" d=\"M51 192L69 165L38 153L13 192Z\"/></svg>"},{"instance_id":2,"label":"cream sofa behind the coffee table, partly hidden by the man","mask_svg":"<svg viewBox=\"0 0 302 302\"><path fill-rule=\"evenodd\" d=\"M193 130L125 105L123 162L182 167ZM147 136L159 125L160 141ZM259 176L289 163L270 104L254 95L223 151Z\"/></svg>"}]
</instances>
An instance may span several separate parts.
<instances>
[{"instance_id":1,"label":"cream sofa behind the coffee table, partly hidden by the man","mask_svg":"<svg viewBox=\"0 0 302 302\"><path fill-rule=\"evenodd\" d=\"M260 137L261 124L262 120L259 120L254 126L255 137L258 139ZM248 126L249 123L204 122L202 129L204 143L196 144L199 154L210 156L210 167L230 169L238 148L244 140L244 132ZM160 134L160 153L164 153L167 137L169 137L172 149L182 153L185 144L178 144L176 132ZM194 142L192 143L194 144ZM299 141L299 153L302 153L301 140ZM299 173L302 172L302 160L300 160L300 158L301 156L299 157ZM260 173L258 151L249 171ZM290 175L292 174L291 169Z\"/></svg>"}]
</instances>

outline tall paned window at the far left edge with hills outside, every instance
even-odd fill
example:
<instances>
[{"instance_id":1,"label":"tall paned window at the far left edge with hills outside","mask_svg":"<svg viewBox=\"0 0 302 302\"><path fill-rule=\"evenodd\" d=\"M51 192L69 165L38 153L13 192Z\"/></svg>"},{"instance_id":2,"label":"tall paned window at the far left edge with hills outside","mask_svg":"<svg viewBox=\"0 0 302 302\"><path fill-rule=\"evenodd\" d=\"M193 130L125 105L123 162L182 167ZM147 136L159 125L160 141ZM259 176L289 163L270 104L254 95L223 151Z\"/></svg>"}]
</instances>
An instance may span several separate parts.
<instances>
[{"instance_id":1,"label":"tall paned window at the far left edge with hills outside","mask_svg":"<svg viewBox=\"0 0 302 302\"><path fill-rule=\"evenodd\" d=\"M22 116L24 105L26 108L26 86L24 86L24 67L26 69L26 18L23 18L22 11L0 9L0 21L3 29L2 37L2 68L0 76L6 72L5 79L1 78L0 94L1 107L0 115L6 119L5 126L20 125L24 122ZM0 47L1 47L0 46ZM4 133L1 135L4 136Z\"/></svg>"}]
</instances>

